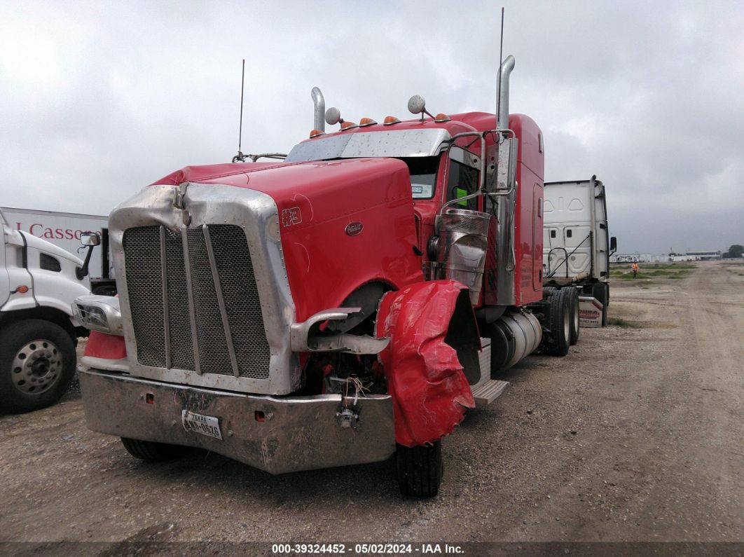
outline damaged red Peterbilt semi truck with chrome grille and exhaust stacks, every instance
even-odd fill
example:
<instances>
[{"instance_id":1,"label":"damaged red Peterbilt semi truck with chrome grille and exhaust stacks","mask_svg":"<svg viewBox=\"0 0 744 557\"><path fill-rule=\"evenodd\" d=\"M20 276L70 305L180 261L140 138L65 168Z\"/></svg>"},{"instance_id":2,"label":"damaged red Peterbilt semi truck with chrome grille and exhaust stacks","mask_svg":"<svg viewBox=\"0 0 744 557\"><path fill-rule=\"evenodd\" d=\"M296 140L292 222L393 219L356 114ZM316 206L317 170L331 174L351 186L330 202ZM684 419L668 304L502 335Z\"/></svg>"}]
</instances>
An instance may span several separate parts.
<instances>
[{"instance_id":1,"label":"damaged red Peterbilt semi truck with chrome grille and exhaust stacks","mask_svg":"<svg viewBox=\"0 0 744 557\"><path fill-rule=\"evenodd\" d=\"M326 133L316 88L283 161L186 167L119 205L119 297L76 303L89 427L144 460L195 446L273 474L395 453L402 492L435 495L488 376L565 355L578 311L543 292L542 132L509 114L513 65L498 115L414 96L413 120L330 109Z\"/></svg>"}]
</instances>

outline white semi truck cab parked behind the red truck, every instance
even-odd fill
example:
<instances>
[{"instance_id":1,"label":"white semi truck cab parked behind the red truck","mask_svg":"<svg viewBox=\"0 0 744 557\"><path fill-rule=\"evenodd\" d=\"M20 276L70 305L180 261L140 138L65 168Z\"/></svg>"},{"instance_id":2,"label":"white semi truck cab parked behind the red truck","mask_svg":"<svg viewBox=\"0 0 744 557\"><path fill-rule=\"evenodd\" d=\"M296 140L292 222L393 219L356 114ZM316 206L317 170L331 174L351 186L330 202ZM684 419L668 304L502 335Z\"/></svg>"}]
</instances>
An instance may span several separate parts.
<instances>
[{"instance_id":1,"label":"white semi truck cab parked behind the red truck","mask_svg":"<svg viewBox=\"0 0 744 557\"><path fill-rule=\"evenodd\" d=\"M581 326L605 326L617 239L609 236L604 184L597 176L545 182L544 203L543 286L580 289Z\"/></svg>"}]
</instances>

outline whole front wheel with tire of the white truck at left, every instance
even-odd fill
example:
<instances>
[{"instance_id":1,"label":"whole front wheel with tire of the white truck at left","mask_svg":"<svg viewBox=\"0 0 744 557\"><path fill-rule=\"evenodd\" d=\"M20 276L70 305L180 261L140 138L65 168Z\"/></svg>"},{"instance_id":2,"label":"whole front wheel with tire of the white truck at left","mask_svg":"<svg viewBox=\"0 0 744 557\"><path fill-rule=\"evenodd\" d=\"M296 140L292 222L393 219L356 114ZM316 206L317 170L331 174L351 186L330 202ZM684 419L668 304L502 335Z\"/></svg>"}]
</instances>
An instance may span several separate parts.
<instances>
[{"instance_id":1,"label":"whole front wheel with tire of the white truck at left","mask_svg":"<svg viewBox=\"0 0 744 557\"><path fill-rule=\"evenodd\" d=\"M77 355L70 335L42 319L0 330L0 408L28 412L53 405L70 386Z\"/></svg>"}]
</instances>

